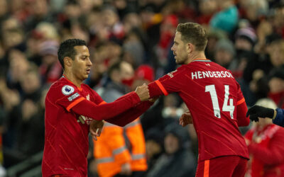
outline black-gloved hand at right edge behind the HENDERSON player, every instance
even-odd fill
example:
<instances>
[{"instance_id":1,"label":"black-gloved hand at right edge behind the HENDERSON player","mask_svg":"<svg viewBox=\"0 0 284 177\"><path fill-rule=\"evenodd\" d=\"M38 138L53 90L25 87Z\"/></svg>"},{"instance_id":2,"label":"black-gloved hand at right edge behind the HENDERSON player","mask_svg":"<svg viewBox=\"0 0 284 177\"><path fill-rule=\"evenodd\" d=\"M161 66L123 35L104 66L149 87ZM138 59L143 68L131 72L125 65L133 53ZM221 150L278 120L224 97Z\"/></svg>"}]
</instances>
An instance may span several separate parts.
<instances>
[{"instance_id":1,"label":"black-gloved hand at right edge behind the HENDERSON player","mask_svg":"<svg viewBox=\"0 0 284 177\"><path fill-rule=\"evenodd\" d=\"M265 108L260 105L253 105L249 108L246 113L246 117L249 116L249 119L252 121L258 122L258 118L273 118L274 110L271 108Z\"/></svg>"}]
</instances>

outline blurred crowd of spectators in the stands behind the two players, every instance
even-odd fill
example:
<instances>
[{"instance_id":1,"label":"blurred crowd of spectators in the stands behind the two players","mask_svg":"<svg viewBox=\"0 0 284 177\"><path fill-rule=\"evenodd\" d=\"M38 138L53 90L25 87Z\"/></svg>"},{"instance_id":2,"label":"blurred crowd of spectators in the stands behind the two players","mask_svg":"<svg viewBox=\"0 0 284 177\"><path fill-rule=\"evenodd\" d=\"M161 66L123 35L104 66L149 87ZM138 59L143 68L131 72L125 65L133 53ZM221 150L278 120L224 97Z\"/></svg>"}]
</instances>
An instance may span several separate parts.
<instances>
[{"instance_id":1,"label":"blurred crowd of spectators in the stands behind the two players","mask_svg":"<svg viewBox=\"0 0 284 177\"><path fill-rule=\"evenodd\" d=\"M57 57L62 40L87 42L93 67L85 83L91 88L106 88L109 68L124 61L128 68L119 79L131 91L178 67L170 47L175 28L185 22L207 29L207 58L231 70L247 105L269 98L284 108L283 0L0 0L2 166L8 169L43 151L44 98L62 76ZM187 176L194 176L195 130L176 126L184 111L173 94L141 117L148 176L177 176L186 169L176 164L185 156ZM169 134L178 140L167 140ZM173 144L178 148L168 151Z\"/></svg>"}]
</instances>

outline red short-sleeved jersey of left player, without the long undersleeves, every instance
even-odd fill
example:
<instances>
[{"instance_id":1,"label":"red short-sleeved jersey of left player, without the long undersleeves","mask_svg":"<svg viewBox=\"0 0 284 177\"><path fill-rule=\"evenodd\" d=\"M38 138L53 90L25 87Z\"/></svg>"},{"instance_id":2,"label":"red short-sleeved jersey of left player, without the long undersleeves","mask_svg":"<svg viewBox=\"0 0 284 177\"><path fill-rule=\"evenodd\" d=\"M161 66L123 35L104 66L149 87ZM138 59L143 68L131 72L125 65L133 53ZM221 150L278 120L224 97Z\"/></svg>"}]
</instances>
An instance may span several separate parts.
<instances>
[{"instance_id":1,"label":"red short-sleeved jersey of left player, without the long undersleeves","mask_svg":"<svg viewBox=\"0 0 284 177\"><path fill-rule=\"evenodd\" d=\"M70 111L85 98L96 104L103 101L86 84L77 88L64 77L50 86L45 98L43 176L87 176L89 120L83 124L80 115Z\"/></svg>"}]
</instances>

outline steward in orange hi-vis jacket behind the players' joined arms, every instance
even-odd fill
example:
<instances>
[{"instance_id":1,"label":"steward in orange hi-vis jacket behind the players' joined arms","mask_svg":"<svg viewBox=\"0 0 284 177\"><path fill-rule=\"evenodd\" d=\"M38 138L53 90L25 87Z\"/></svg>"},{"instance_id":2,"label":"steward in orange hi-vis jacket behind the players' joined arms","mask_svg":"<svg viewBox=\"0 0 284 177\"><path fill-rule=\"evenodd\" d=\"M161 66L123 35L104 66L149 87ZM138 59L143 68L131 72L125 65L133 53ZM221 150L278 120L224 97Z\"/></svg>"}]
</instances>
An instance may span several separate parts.
<instances>
[{"instance_id":1,"label":"steward in orange hi-vis jacket behind the players' joined arms","mask_svg":"<svg viewBox=\"0 0 284 177\"><path fill-rule=\"evenodd\" d=\"M124 81L133 78L133 68L127 62L116 62L109 68L108 76L110 81L101 96L104 101L111 102L127 93ZM106 122L100 140L94 141L94 159L99 176L143 176L147 164L140 120L125 127Z\"/></svg>"}]
</instances>

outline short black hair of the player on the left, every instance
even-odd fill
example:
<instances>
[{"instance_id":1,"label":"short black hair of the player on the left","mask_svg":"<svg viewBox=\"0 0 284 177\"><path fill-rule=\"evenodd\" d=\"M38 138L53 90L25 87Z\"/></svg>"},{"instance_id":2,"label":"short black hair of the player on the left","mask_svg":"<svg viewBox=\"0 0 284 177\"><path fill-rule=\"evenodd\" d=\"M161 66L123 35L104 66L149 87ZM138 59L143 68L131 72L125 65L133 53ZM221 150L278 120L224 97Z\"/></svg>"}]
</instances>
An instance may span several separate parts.
<instances>
[{"instance_id":1,"label":"short black hair of the player on the left","mask_svg":"<svg viewBox=\"0 0 284 177\"><path fill-rule=\"evenodd\" d=\"M71 59L74 60L75 55L77 54L74 47L82 45L87 46L86 42L80 39L68 39L61 42L60 47L58 49L58 59L63 69L64 69L64 58L70 57Z\"/></svg>"}]
</instances>

